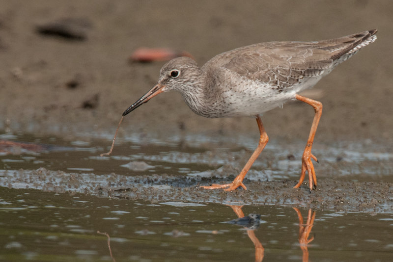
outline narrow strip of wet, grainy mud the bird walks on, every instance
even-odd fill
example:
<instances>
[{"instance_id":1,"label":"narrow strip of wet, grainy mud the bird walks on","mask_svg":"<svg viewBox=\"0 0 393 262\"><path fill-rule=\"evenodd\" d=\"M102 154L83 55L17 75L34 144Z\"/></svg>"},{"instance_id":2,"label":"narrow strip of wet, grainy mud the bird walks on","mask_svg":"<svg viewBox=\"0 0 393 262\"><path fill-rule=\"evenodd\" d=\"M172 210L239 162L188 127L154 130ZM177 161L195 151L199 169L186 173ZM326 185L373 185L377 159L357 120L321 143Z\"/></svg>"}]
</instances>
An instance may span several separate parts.
<instances>
[{"instance_id":1,"label":"narrow strip of wet, grainy mud the bird walks on","mask_svg":"<svg viewBox=\"0 0 393 262\"><path fill-rule=\"evenodd\" d=\"M316 190L296 181L245 180L248 190L234 192L201 189L199 185L223 183L220 178L151 175L126 177L118 174L94 175L48 171L6 171L1 186L35 188L57 193L84 193L102 197L141 199L153 203L181 201L236 205L279 205L317 210L393 212L393 183L343 182L320 179ZM225 181L225 180L224 180ZM66 186L64 186L66 185Z\"/></svg>"}]
</instances>

